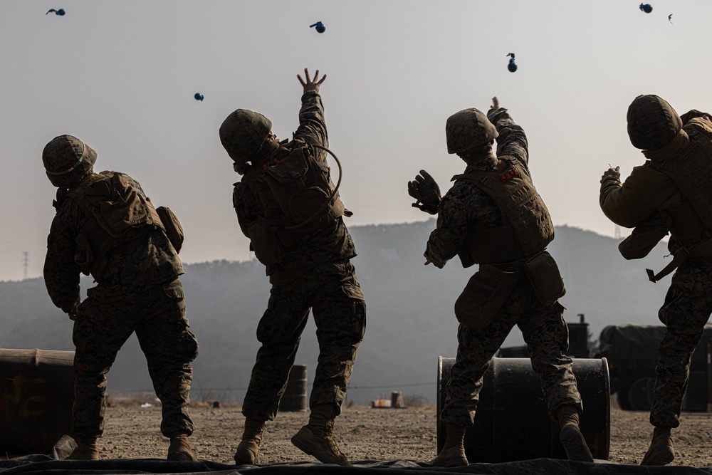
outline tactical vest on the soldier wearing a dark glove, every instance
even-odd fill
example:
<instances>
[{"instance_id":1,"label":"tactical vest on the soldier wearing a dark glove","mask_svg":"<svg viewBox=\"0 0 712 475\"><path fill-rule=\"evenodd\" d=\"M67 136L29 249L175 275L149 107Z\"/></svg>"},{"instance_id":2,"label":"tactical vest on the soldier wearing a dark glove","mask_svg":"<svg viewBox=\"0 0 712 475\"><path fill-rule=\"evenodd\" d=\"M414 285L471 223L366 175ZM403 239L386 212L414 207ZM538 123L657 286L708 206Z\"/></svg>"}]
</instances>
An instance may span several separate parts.
<instances>
[{"instance_id":1,"label":"tactical vest on the soldier wearing a dark glove","mask_svg":"<svg viewBox=\"0 0 712 475\"><path fill-rule=\"evenodd\" d=\"M554 239L554 226L528 169L513 160L498 160L496 172L473 171L453 177L486 192L506 218L496 228L479 227L466 236L475 263L503 263L533 256Z\"/></svg>"}]
</instances>

